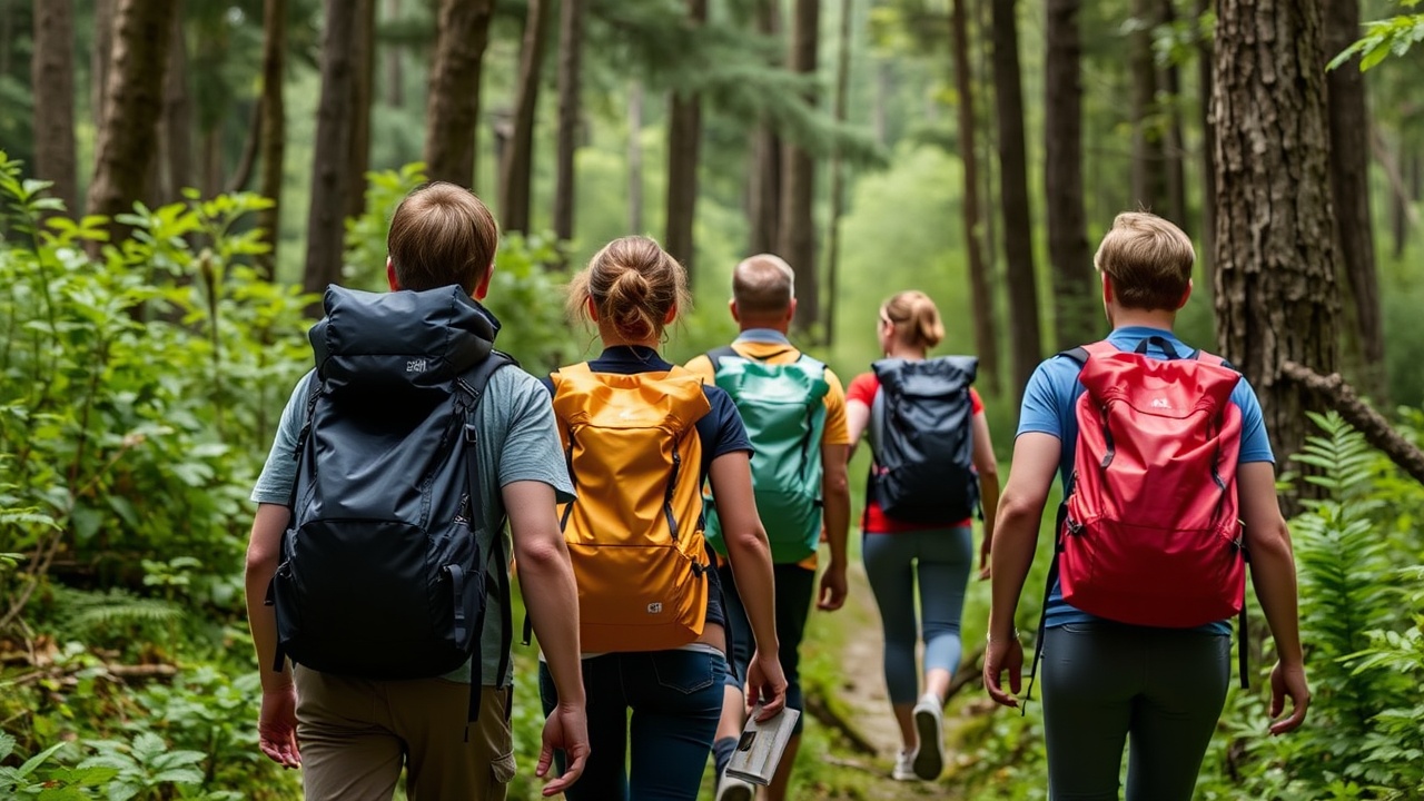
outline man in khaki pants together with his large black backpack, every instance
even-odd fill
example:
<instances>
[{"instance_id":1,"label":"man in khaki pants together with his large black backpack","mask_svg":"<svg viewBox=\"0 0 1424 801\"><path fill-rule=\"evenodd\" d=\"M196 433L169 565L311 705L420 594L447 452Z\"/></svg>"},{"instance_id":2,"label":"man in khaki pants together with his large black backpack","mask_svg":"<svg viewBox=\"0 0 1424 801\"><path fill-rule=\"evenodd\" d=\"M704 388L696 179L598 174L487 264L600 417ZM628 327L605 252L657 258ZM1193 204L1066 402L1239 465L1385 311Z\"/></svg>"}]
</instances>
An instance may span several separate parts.
<instances>
[{"instance_id":1,"label":"man in khaki pants together with his large black backpack","mask_svg":"<svg viewBox=\"0 0 1424 801\"><path fill-rule=\"evenodd\" d=\"M497 242L470 191L431 182L406 195L387 238L390 294L328 289L310 335L316 369L292 392L252 490L259 745L303 768L309 801L389 801L402 768L412 801L506 797L515 771L506 515L561 698L537 775L554 748L571 755L545 794L572 785L588 758L578 600L554 516L572 487L543 388L491 352L498 322L478 299ZM440 549L449 562L427 577L426 554ZM419 601L436 580L431 609ZM409 597L417 603L399 617ZM419 640L431 626L433 643ZM440 667L422 673L427 663Z\"/></svg>"}]
</instances>

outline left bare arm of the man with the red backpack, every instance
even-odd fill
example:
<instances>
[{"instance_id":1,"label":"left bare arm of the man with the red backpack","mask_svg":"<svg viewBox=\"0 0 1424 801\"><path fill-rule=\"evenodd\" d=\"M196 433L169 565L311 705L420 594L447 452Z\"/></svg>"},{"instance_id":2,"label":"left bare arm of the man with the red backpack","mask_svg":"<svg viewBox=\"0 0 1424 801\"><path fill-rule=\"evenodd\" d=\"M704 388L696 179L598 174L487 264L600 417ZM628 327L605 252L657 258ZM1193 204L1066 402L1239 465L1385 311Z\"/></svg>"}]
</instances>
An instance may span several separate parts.
<instances>
[{"instance_id":1,"label":"left bare arm of the man with the red backpack","mask_svg":"<svg viewBox=\"0 0 1424 801\"><path fill-rule=\"evenodd\" d=\"M1004 693L1001 673L1008 670L1010 688L1018 693L1024 651L1014 631L1014 613L1024 580L1038 547L1038 523L1058 469L1062 443L1049 433L1030 432L1014 442L1014 469L998 499L993 550L993 606L988 616L988 647L984 651L984 686L995 701L1017 707Z\"/></svg>"}]
</instances>

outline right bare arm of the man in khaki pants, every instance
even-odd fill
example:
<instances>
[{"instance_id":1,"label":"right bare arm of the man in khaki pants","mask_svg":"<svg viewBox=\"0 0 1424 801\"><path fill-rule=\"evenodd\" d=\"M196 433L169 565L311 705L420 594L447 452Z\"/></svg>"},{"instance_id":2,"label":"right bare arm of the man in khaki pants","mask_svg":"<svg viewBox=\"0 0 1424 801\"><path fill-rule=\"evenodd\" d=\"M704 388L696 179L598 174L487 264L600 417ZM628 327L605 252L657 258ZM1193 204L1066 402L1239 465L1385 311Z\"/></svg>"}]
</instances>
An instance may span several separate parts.
<instances>
[{"instance_id":1,"label":"right bare arm of the man in khaki pants","mask_svg":"<svg viewBox=\"0 0 1424 801\"><path fill-rule=\"evenodd\" d=\"M578 647L578 587L568 547L558 530L554 487L544 482L510 482L501 490L510 516L520 587L540 650L558 688L558 707L544 724L538 775L548 772L554 748L568 754L564 774L544 785L544 795L562 792L588 760L584 677Z\"/></svg>"}]
</instances>

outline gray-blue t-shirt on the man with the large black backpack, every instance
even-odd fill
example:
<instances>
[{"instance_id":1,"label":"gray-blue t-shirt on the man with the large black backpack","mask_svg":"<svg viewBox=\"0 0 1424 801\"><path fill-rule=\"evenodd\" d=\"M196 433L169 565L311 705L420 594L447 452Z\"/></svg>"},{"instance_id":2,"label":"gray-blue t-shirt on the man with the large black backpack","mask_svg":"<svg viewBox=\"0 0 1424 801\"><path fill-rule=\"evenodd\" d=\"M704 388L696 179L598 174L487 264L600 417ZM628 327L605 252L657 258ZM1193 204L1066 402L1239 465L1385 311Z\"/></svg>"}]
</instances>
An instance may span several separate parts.
<instances>
[{"instance_id":1,"label":"gray-blue t-shirt on the man with the large black backpack","mask_svg":"<svg viewBox=\"0 0 1424 801\"><path fill-rule=\"evenodd\" d=\"M292 452L296 438L306 423L306 399L310 395L315 371L306 373L292 391L292 398L282 410L276 439L268 453L266 465L258 483L252 487L252 500L286 506L292 497L292 483L296 480L296 460ZM574 499L574 486L564 466L564 450L554 428L554 409L548 392L531 375L517 366L506 366L494 372L490 385L476 412L480 438L476 452L480 460L480 524L477 536L484 553L491 552L493 534L504 537L504 553L513 554L508 532L503 527L504 497L500 487L514 482L543 482L554 487L560 503ZM493 480L490 480L493 476ZM504 676L496 683L494 671L500 663L500 600L490 594L484 616L484 631L480 634L481 678L486 686L506 686L513 678ZM515 621L517 624L517 621ZM450 673L446 678L470 680L470 666Z\"/></svg>"}]
</instances>

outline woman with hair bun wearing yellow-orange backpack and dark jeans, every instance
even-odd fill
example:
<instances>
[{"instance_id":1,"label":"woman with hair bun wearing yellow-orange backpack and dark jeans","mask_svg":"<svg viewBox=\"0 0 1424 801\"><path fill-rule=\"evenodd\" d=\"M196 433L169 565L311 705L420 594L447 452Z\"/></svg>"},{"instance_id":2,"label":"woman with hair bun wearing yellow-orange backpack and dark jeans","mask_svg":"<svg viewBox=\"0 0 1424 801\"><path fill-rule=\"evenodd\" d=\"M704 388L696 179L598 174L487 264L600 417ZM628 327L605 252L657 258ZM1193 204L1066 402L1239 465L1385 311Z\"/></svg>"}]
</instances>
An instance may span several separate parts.
<instances>
[{"instance_id":1,"label":"woman with hair bun wearing yellow-orange backpack and dark jeans","mask_svg":"<svg viewBox=\"0 0 1424 801\"><path fill-rule=\"evenodd\" d=\"M578 490L561 519L580 590L592 755L571 801L698 795L728 671L725 594L703 540L708 479L750 620L758 718L786 704L752 445L726 392L658 353L689 305L676 259L645 237L614 239L568 296L604 351L547 381ZM544 708L557 710L562 696L548 673L540 690Z\"/></svg>"}]
</instances>

